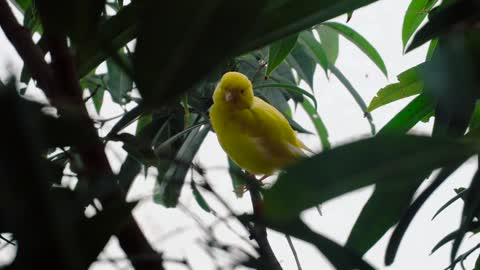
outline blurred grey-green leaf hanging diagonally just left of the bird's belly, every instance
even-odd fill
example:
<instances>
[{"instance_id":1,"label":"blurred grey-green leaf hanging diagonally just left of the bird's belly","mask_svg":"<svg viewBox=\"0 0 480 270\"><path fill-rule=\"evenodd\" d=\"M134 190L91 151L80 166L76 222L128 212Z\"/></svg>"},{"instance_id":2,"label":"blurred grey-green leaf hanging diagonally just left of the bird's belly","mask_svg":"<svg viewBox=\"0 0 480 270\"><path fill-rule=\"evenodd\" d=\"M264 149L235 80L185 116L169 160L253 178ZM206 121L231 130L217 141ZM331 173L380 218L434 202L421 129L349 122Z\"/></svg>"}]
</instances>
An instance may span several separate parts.
<instances>
[{"instance_id":1,"label":"blurred grey-green leaf hanging diagonally just left of the bird's belly","mask_svg":"<svg viewBox=\"0 0 480 270\"><path fill-rule=\"evenodd\" d=\"M175 159L165 175L159 175L159 196L161 203L166 207L175 207L185 182L185 176L192 165L192 160L200 145L207 136L210 126L199 127L190 132L185 142L178 150ZM161 179L163 178L163 179Z\"/></svg>"}]
</instances>

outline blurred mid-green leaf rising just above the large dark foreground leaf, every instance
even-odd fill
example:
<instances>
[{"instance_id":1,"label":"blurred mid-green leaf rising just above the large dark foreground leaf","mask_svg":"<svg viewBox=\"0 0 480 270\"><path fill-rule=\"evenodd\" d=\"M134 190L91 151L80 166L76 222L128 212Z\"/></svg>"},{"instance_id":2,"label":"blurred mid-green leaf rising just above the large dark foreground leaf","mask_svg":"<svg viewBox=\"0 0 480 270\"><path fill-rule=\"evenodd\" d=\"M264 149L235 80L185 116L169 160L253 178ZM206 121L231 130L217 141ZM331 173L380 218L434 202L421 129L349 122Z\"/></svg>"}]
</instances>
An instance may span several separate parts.
<instances>
[{"instance_id":1,"label":"blurred mid-green leaf rising just above the large dark foreground leaf","mask_svg":"<svg viewBox=\"0 0 480 270\"><path fill-rule=\"evenodd\" d=\"M435 101L426 94L420 94L397 113L378 134L403 134L414 127L435 109Z\"/></svg>"}]
</instances>

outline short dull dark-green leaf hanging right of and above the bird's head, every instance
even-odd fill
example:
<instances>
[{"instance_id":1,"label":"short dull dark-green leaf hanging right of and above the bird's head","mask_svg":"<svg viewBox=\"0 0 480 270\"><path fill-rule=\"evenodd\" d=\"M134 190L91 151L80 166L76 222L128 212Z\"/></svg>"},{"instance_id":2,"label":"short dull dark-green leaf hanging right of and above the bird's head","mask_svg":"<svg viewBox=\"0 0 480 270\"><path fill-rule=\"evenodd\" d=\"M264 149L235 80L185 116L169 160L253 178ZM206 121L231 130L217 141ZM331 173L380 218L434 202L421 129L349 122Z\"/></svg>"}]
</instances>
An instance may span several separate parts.
<instances>
[{"instance_id":1,"label":"short dull dark-green leaf hanging right of and above the bird's head","mask_svg":"<svg viewBox=\"0 0 480 270\"><path fill-rule=\"evenodd\" d=\"M313 89L313 74L317 64L310 58L306 50L307 48L303 44L297 42L290 55L287 56L287 63Z\"/></svg>"}]
</instances>

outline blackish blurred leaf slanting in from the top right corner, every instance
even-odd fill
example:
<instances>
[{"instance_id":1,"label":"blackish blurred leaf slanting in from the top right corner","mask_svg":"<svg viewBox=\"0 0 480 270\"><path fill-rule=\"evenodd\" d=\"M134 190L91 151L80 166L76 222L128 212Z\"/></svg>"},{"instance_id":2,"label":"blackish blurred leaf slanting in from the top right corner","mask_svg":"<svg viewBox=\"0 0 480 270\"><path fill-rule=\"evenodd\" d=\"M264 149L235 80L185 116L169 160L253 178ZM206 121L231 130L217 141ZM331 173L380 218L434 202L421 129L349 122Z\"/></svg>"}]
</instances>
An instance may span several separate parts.
<instances>
[{"instance_id":1,"label":"blackish blurred leaf slanting in from the top right corner","mask_svg":"<svg viewBox=\"0 0 480 270\"><path fill-rule=\"evenodd\" d=\"M453 31L456 27L463 27L462 23L478 20L480 8L475 1L455 1L451 5L442 5L438 12L429 16L429 21L415 34L406 52L409 52L425 42L439 37L441 34ZM466 30L466 29L464 29ZM459 31L459 29L455 29Z\"/></svg>"}]
</instances>

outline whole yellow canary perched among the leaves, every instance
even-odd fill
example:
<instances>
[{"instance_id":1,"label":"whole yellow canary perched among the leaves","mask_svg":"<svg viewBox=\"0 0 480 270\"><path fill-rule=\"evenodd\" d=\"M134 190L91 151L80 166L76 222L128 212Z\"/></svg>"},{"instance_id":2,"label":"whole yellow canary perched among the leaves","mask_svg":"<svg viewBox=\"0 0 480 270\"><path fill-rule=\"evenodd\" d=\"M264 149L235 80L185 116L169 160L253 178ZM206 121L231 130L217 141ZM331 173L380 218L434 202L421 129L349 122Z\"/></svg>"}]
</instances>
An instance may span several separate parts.
<instances>
[{"instance_id":1,"label":"whole yellow canary perched among the leaves","mask_svg":"<svg viewBox=\"0 0 480 270\"><path fill-rule=\"evenodd\" d=\"M223 150L252 174L270 175L309 151L282 113L254 96L252 83L239 72L225 73L217 84L210 121Z\"/></svg>"}]
</instances>

